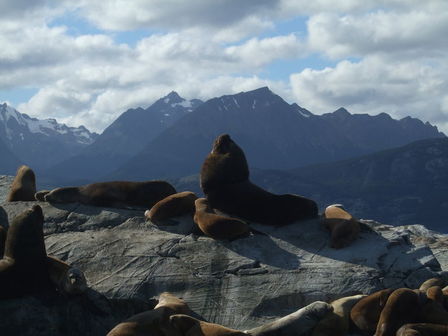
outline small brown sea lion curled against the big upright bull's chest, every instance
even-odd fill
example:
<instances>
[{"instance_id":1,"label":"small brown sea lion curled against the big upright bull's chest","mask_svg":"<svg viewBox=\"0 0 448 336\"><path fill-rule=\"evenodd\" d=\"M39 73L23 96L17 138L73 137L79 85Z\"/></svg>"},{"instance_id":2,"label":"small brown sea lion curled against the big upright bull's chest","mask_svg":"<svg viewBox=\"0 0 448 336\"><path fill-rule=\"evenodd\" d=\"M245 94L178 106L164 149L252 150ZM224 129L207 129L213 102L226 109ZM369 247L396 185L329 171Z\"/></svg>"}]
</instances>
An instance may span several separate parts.
<instances>
[{"instance_id":1,"label":"small brown sea lion curled against the big upright bull's chest","mask_svg":"<svg viewBox=\"0 0 448 336\"><path fill-rule=\"evenodd\" d=\"M205 198L195 202L194 222L199 229L213 239L235 239L249 233L247 223L237 218L216 214Z\"/></svg>"}]
</instances>

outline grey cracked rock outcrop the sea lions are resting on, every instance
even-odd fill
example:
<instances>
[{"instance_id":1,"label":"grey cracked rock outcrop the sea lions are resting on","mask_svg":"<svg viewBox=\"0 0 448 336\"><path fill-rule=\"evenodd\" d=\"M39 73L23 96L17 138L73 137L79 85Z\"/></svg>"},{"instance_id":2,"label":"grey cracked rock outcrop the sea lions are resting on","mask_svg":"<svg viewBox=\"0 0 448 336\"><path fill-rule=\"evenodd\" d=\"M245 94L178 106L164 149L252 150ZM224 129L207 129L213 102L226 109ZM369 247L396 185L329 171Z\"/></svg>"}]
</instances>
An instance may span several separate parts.
<instances>
[{"instance_id":1,"label":"grey cracked rock outcrop the sea lions are resting on","mask_svg":"<svg viewBox=\"0 0 448 336\"><path fill-rule=\"evenodd\" d=\"M2 213L11 221L32 204L3 203L0 222ZM48 254L80 268L91 291L0 302L0 316L9 317L0 319L0 330L10 334L38 326L44 331L32 335L104 335L164 291L183 297L207 321L244 330L317 300L416 288L445 277L448 267L448 237L421 226L363 221L359 239L335 250L318 220L252 224L259 233L217 241L200 236L188 216L156 226L145 222L144 209L39 204Z\"/></svg>"}]
</instances>

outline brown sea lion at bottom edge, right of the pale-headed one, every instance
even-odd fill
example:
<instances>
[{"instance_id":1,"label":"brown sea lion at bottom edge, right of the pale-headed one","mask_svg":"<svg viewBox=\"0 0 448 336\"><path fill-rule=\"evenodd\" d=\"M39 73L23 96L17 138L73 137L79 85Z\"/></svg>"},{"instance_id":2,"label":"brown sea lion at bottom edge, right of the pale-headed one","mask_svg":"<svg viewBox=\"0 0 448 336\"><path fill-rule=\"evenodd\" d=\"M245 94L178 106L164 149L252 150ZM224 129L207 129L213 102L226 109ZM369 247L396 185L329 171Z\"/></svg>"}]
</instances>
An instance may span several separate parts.
<instances>
[{"instance_id":1,"label":"brown sea lion at bottom edge, right of the pale-headed one","mask_svg":"<svg viewBox=\"0 0 448 336\"><path fill-rule=\"evenodd\" d=\"M170 324L181 336L247 336L242 331L200 321L184 314L170 316Z\"/></svg>"}]
</instances>

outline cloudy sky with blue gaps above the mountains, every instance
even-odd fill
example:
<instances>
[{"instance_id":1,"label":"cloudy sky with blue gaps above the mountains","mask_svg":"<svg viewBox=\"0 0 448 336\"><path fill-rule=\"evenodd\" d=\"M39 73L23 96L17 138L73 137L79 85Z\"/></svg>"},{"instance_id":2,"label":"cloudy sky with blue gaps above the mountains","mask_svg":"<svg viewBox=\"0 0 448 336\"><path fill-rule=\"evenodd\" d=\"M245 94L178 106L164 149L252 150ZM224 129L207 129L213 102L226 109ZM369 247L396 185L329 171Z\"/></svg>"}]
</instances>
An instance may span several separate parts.
<instances>
[{"instance_id":1,"label":"cloudy sky with blue gaps above the mountains","mask_svg":"<svg viewBox=\"0 0 448 336\"><path fill-rule=\"evenodd\" d=\"M101 132L170 91L269 86L448 134L446 0L0 0L0 102Z\"/></svg>"}]
</instances>

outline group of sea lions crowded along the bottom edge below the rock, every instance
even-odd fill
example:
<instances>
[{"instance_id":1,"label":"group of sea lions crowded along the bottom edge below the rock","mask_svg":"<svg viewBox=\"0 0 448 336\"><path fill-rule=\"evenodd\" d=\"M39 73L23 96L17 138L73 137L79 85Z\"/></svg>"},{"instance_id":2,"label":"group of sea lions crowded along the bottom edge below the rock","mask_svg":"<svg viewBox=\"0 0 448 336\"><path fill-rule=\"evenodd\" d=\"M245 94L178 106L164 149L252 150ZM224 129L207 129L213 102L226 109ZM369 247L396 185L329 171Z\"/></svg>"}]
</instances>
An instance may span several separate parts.
<instances>
[{"instance_id":1,"label":"group of sea lions crowded along the bottom edge below the rock","mask_svg":"<svg viewBox=\"0 0 448 336\"><path fill-rule=\"evenodd\" d=\"M153 310L118 324L107 336L446 336L448 287L442 289L443 283L433 278L419 289L383 289L330 304L316 301L244 331L199 320L184 300L163 293Z\"/></svg>"}]
</instances>

